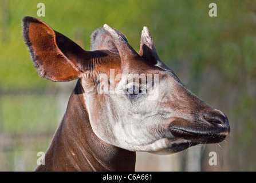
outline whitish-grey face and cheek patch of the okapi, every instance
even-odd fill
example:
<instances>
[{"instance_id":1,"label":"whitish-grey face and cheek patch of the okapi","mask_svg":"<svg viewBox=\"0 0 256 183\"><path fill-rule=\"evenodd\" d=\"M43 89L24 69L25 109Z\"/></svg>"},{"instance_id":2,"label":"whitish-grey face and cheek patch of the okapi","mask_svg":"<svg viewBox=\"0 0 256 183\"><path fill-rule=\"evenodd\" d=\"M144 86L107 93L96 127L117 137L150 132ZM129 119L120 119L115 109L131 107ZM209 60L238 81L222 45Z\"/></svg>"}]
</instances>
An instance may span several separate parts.
<instances>
[{"instance_id":1,"label":"whitish-grey face and cheek patch of the okapi","mask_svg":"<svg viewBox=\"0 0 256 183\"><path fill-rule=\"evenodd\" d=\"M190 105L186 104L189 101L186 97L198 99L173 74L163 73L166 75L162 78L154 75L153 84L138 83L140 80L132 79L134 75L131 74L117 74L114 78L112 73L111 79L117 81L115 86L115 81L109 82L107 75L101 75L98 81L103 83L99 83L97 90L84 93L96 136L108 144L131 151L175 153L188 148L191 141L174 137L169 125L177 118L190 121L193 114L187 108ZM152 74L147 77L149 81ZM88 90L89 85L82 83L84 90ZM132 89L136 92L137 88L141 92L138 96L129 92ZM182 145L178 146L179 143Z\"/></svg>"}]
</instances>

